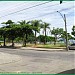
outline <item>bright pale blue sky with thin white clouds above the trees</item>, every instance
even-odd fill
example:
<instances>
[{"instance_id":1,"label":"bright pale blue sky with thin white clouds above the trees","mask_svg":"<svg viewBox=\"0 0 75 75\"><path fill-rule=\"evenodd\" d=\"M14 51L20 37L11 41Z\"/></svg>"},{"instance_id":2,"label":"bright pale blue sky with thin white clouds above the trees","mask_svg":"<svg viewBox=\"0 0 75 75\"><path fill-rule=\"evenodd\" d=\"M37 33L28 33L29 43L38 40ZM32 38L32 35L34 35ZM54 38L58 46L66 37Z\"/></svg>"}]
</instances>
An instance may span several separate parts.
<instances>
[{"instance_id":1,"label":"bright pale blue sky with thin white clouds above the trees","mask_svg":"<svg viewBox=\"0 0 75 75\"><path fill-rule=\"evenodd\" d=\"M7 20L42 20L49 23L51 29L59 27L65 30L64 20L57 11L66 15L67 31L71 33L75 25L75 1L63 1L62 4L59 1L0 1L0 27Z\"/></svg>"}]
</instances>

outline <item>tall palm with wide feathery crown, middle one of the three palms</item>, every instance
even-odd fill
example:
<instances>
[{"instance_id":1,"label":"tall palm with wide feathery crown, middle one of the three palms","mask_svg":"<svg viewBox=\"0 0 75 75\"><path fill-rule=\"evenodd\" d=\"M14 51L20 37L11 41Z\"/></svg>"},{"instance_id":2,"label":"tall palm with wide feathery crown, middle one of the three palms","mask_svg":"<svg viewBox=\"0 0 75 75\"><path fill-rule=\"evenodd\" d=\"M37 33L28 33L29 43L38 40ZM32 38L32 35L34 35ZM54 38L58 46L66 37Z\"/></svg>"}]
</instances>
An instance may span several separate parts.
<instances>
[{"instance_id":1,"label":"tall palm with wide feathery crown, middle one of the three palms","mask_svg":"<svg viewBox=\"0 0 75 75\"><path fill-rule=\"evenodd\" d=\"M32 20L31 25L33 27L34 35L35 35L35 45L36 45L36 34L40 31L41 20Z\"/></svg>"}]
</instances>

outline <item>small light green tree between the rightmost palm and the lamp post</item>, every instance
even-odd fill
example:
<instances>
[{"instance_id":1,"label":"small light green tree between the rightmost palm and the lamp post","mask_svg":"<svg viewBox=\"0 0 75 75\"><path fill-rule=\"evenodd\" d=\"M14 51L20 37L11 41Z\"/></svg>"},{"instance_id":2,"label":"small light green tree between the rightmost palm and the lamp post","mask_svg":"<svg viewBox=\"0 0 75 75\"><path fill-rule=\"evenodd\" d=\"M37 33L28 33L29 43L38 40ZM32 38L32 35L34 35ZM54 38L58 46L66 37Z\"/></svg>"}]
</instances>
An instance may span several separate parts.
<instances>
[{"instance_id":1,"label":"small light green tree between the rightmost palm and the lamp post","mask_svg":"<svg viewBox=\"0 0 75 75\"><path fill-rule=\"evenodd\" d=\"M51 34L53 34L54 37L55 37L54 45L56 45L57 39L61 36L62 33L63 33L63 29L62 28L56 28L55 29L53 27L53 30L51 31Z\"/></svg>"}]
</instances>

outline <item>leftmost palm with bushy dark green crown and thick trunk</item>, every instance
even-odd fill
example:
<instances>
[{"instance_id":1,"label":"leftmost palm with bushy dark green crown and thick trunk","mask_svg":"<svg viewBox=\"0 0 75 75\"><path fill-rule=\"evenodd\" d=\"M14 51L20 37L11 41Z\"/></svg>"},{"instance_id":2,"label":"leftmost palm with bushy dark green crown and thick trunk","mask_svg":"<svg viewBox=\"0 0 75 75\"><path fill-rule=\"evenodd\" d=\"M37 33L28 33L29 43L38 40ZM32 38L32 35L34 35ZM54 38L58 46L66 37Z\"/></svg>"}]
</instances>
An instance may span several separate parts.
<instances>
[{"instance_id":1,"label":"leftmost palm with bushy dark green crown and thick trunk","mask_svg":"<svg viewBox=\"0 0 75 75\"><path fill-rule=\"evenodd\" d=\"M26 46L27 35L32 33L32 27L29 24L30 22L26 22L25 20L19 21L21 25L21 33L23 34L23 46Z\"/></svg>"}]
</instances>

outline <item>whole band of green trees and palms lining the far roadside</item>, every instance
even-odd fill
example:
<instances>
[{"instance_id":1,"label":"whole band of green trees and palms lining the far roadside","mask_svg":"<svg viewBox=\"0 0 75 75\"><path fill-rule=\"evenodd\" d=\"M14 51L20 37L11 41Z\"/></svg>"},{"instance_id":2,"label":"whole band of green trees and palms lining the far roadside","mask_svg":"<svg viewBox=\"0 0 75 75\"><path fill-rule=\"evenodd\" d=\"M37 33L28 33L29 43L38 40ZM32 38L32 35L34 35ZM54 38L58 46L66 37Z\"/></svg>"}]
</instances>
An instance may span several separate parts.
<instances>
[{"instance_id":1,"label":"whole band of green trees and palms lining the far roadside","mask_svg":"<svg viewBox=\"0 0 75 75\"><path fill-rule=\"evenodd\" d=\"M56 44L58 38L66 38L66 32L63 31L62 28L53 28L53 30L50 30L50 24L41 20L32 20L28 22L22 20L18 23L8 20L2 24L6 24L6 26L0 28L0 40L4 40L4 45L6 39L12 41L12 46L14 46L14 41L23 42L23 46L26 46L26 43L36 44L37 41L44 44L46 44L46 42L54 42L54 44ZM43 29L45 34L36 37L40 29ZM48 30L54 37L46 35ZM68 40L74 39L69 33L67 34ZM72 35L75 36L75 26L72 28Z\"/></svg>"}]
</instances>

